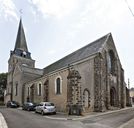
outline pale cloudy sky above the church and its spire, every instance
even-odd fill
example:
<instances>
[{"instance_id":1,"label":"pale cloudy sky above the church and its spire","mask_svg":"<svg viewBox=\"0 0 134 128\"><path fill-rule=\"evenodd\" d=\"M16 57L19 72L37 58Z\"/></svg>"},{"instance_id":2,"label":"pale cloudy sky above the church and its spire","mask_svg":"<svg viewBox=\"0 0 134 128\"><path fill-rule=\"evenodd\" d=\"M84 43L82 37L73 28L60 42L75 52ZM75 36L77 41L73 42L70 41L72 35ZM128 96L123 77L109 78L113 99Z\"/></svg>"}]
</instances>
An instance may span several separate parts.
<instances>
[{"instance_id":1,"label":"pale cloudy sky above the church and its spire","mask_svg":"<svg viewBox=\"0 0 134 128\"><path fill-rule=\"evenodd\" d=\"M36 68L42 69L111 32L125 82L129 78L130 87L134 87L133 12L134 0L0 0L0 73L8 71L22 17Z\"/></svg>"}]
</instances>

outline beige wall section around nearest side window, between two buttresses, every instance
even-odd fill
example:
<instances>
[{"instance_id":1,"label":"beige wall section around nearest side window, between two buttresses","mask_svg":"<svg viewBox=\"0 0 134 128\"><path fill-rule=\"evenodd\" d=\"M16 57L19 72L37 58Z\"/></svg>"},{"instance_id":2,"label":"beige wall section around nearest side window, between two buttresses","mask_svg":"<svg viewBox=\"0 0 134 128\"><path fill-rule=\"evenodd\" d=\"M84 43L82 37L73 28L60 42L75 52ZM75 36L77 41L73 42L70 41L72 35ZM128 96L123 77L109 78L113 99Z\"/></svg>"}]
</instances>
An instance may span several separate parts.
<instances>
[{"instance_id":1,"label":"beige wall section around nearest side window, between two buttresses","mask_svg":"<svg viewBox=\"0 0 134 128\"><path fill-rule=\"evenodd\" d=\"M49 75L49 100L55 103L57 111L66 111L68 70L57 71ZM61 79L61 93L56 94L56 79Z\"/></svg>"}]
</instances>

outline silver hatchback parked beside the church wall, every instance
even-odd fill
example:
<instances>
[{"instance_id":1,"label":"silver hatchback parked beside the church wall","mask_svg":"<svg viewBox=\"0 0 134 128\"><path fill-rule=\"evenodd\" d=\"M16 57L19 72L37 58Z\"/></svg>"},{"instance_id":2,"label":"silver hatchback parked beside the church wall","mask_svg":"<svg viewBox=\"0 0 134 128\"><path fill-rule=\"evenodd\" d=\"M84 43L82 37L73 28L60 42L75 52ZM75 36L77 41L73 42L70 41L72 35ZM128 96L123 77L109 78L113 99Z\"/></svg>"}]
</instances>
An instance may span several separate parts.
<instances>
[{"instance_id":1,"label":"silver hatchback parked beside the church wall","mask_svg":"<svg viewBox=\"0 0 134 128\"><path fill-rule=\"evenodd\" d=\"M41 102L38 106L36 106L35 112L41 113L42 115L47 114L47 113L56 114L56 107L55 107L54 103Z\"/></svg>"}]
</instances>

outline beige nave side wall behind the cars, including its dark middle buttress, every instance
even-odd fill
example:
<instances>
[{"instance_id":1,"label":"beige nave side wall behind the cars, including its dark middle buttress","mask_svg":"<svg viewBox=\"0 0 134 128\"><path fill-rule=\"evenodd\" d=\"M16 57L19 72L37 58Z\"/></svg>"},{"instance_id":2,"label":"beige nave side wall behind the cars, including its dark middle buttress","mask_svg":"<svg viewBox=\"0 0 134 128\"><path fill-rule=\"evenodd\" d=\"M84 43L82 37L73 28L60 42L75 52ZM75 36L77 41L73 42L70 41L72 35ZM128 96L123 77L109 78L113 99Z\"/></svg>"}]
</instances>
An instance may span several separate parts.
<instances>
[{"instance_id":1,"label":"beige nave side wall behind the cars, including its dark middle buttress","mask_svg":"<svg viewBox=\"0 0 134 128\"><path fill-rule=\"evenodd\" d=\"M25 101L28 97L28 87L34 85L34 102L50 101L56 105L57 111L65 112L67 105L67 75L68 70L62 70L26 83ZM61 78L61 94L56 94L55 92L56 79L58 77ZM37 94L37 86L39 83L42 85L42 94L40 96Z\"/></svg>"}]
</instances>

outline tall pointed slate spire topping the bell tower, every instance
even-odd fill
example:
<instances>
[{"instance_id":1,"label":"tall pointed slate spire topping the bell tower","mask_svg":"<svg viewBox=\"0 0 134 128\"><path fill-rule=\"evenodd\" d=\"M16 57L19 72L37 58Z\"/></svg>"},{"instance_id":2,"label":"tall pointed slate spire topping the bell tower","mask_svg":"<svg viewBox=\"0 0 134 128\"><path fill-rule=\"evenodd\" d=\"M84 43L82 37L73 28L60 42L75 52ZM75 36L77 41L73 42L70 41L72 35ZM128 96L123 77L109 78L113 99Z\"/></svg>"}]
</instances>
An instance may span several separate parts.
<instances>
[{"instance_id":1,"label":"tall pointed slate spire topping the bell tower","mask_svg":"<svg viewBox=\"0 0 134 128\"><path fill-rule=\"evenodd\" d=\"M25 33L24 33L21 19L20 19L20 23L19 23L19 28L18 28L18 33L17 33L16 44L15 44L14 50L16 50L16 49L20 49L22 51L28 52L27 42L26 42Z\"/></svg>"}]
</instances>

